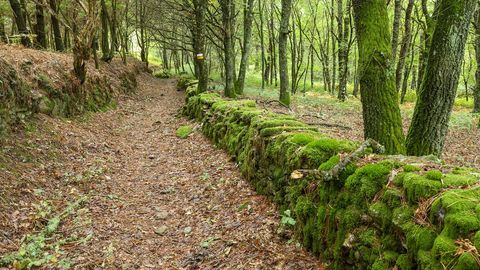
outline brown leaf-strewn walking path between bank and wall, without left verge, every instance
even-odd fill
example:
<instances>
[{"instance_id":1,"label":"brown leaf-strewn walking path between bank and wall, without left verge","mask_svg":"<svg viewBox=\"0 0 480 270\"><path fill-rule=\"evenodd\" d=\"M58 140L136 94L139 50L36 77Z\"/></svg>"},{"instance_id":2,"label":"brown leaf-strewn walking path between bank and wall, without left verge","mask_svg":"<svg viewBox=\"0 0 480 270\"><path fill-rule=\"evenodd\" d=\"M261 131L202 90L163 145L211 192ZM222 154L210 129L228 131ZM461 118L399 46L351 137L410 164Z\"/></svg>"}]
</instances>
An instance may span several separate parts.
<instances>
[{"instance_id":1,"label":"brown leaf-strewn walking path between bank and wall, without left verge","mask_svg":"<svg viewBox=\"0 0 480 270\"><path fill-rule=\"evenodd\" d=\"M77 266L321 268L276 233L275 206L255 194L224 151L199 130L176 137L187 120L178 116L184 94L175 81L138 80L138 95L81 123L76 134L87 146L84 163L105 168L87 206L93 238L68 249Z\"/></svg>"}]
</instances>

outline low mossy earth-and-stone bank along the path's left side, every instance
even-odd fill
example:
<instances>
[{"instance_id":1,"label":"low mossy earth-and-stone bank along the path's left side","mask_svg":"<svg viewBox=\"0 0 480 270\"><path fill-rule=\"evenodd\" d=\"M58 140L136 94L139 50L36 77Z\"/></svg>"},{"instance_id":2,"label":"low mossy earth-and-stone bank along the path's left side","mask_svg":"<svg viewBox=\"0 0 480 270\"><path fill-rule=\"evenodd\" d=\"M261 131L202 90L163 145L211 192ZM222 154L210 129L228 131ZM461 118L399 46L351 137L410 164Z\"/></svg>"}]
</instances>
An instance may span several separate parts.
<instances>
[{"instance_id":1,"label":"low mossy earth-and-stone bank along the path's left side","mask_svg":"<svg viewBox=\"0 0 480 270\"><path fill-rule=\"evenodd\" d=\"M80 85L68 69L63 73L52 72L56 77L54 82L51 75L34 72L31 61L26 61L23 67L27 71L32 70L28 79L24 71L0 59L0 135L12 123L35 113L70 117L111 108L116 104L116 95L128 94L136 89L136 75L141 71L136 66L131 70L109 68L103 76L89 76ZM110 74L115 77L107 76ZM114 80L119 81L117 87L112 86Z\"/></svg>"}]
</instances>

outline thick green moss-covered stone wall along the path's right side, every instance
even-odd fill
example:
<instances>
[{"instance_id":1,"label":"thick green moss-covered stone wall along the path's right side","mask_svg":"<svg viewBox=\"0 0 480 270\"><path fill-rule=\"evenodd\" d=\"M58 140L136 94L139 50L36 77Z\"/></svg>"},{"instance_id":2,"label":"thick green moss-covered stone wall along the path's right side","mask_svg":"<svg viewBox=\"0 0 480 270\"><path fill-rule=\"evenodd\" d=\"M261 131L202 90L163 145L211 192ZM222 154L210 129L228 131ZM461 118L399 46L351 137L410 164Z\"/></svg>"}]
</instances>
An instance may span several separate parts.
<instances>
[{"instance_id":1,"label":"thick green moss-covered stone wall along the path's right side","mask_svg":"<svg viewBox=\"0 0 480 270\"><path fill-rule=\"evenodd\" d=\"M225 148L258 193L290 209L303 245L332 269L480 269L480 172L367 154L331 180L359 147L292 116L187 90L184 112Z\"/></svg>"}]
</instances>

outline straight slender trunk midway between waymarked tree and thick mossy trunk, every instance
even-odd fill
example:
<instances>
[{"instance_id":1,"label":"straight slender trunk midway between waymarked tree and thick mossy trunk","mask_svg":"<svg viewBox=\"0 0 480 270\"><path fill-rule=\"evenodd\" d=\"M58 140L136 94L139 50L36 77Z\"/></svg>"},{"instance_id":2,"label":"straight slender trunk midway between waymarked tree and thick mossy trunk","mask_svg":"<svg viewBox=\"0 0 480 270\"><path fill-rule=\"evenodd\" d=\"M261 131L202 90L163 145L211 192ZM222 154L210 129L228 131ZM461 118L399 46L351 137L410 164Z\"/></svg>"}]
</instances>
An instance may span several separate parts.
<instances>
[{"instance_id":1,"label":"straight slender trunk midway between waymarked tree and thick mossy trunk","mask_svg":"<svg viewBox=\"0 0 480 270\"><path fill-rule=\"evenodd\" d=\"M280 102L290 105L290 93L288 91L288 66L287 66L287 41L288 22L292 11L292 0L282 0L282 12L280 17L280 32L278 36L278 58L280 67Z\"/></svg>"}]
</instances>

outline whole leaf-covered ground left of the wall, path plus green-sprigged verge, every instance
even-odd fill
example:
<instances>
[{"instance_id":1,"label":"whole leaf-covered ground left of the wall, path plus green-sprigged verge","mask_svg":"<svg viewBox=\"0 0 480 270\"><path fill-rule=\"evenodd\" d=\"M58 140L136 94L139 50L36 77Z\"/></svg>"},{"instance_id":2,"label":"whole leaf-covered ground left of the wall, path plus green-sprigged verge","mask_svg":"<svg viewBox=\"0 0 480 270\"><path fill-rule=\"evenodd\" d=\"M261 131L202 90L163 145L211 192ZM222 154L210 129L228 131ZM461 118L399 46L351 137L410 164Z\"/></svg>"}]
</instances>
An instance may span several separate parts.
<instances>
[{"instance_id":1,"label":"whole leaf-covered ground left of the wall, path plus green-sprigged verge","mask_svg":"<svg viewBox=\"0 0 480 270\"><path fill-rule=\"evenodd\" d=\"M278 233L275 206L198 126L175 136L195 125L179 116L175 81L138 81L114 110L38 115L7 139L0 258L72 269L322 269Z\"/></svg>"}]
</instances>

